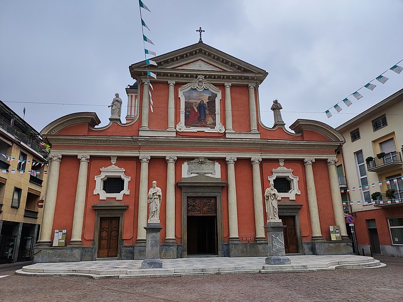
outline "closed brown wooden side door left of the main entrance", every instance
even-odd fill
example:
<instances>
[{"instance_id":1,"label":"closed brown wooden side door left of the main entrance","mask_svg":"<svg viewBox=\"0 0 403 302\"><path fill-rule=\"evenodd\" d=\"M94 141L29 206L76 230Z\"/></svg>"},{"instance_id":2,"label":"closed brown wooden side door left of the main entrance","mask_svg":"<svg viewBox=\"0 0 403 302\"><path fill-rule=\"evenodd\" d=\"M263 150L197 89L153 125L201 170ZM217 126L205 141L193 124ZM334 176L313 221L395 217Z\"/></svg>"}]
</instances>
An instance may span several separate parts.
<instances>
[{"instance_id":1,"label":"closed brown wooden side door left of the main entrance","mask_svg":"<svg viewBox=\"0 0 403 302\"><path fill-rule=\"evenodd\" d=\"M98 258L117 257L119 217L101 217Z\"/></svg>"}]
</instances>

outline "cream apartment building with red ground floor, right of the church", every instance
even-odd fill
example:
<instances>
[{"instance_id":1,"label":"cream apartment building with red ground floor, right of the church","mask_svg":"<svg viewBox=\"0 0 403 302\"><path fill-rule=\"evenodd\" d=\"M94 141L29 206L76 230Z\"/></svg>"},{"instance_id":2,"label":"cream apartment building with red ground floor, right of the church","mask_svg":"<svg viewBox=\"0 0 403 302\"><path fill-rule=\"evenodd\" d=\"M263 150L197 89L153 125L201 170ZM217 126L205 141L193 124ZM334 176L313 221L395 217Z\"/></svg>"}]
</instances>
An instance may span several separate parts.
<instances>
[{"instance_id":1,"label":"cream apartment building with red ground floor, right of the church","mask_svg":"<svg viewBox=\"0 0 403 302\"><path fill-rule=\"evenodd\" d=\"M403 89L336 130L346 139L337 169L359 251L403 257Z\"/></svg>"}]
</instances>

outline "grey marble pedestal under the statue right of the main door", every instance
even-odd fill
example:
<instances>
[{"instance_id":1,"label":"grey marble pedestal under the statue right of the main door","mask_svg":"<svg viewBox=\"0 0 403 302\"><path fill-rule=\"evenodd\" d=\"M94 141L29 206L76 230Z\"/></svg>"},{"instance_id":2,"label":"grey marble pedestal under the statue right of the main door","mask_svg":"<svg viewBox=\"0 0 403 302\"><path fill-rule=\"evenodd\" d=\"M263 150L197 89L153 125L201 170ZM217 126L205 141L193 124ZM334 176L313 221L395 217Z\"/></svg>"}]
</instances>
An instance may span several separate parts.
<instances>
[{"instance_id":1,"label":"grey marble pedestal under the statue right of the main door","mask_svg":"<svg viewBox=\"0 0 403 302\"><path fill-rule=\"evenodd\" d=\"M267 264L290 264L291 260L286 256L284 249L284 234L283 230L286 226L281 220L267 220L267 225L264 226L267 232L268 256L265 259Z\"/></svg>"}]
</instances>

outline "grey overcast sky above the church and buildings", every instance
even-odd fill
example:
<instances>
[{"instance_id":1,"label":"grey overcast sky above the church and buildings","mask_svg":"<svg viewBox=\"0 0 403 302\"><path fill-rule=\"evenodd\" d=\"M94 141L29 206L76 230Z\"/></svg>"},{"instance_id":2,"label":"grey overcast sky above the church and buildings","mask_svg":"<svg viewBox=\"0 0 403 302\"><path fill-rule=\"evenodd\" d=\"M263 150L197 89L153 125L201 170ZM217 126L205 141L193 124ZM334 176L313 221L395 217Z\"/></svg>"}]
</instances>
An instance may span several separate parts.
<instances>
[{"instance_id":1,"label":"grey overcast sky above the church and buildings","mask_svg":"<svg viewBox=\"0 0 403 302\"><path fill-rule=\"evenodd\" d=\"M403 88L403 72L388 71L385 84L372 82L377 87L350 97L341 113L320 113L403 59L403 1L144 3L157 55L196 43L201 26L206 44L266 70L259 94L268 127L274 98L287 126L309 118L337 127ZM138 0L0 0L0 100L20 116L26 107L38 131L79 111L96 112L106 125L116 92L127 104L128 66L143 59Z\"/></svg>"}]
</instances>

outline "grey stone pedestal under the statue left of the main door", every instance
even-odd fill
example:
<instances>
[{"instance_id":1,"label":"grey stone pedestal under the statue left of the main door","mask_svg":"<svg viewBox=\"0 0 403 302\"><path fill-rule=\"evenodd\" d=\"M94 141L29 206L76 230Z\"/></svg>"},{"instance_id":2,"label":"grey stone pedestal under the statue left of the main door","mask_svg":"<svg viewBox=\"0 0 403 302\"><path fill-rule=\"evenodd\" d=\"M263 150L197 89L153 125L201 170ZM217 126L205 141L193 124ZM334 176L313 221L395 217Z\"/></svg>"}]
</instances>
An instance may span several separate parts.
<instances>
[{"instance_id":1,"label":"grey stone pedestal under the statue left of the main door","mask_svg":"<svg viewBox=\"0 0 403 302\"><path fill-rule=\"evenodd\" d=\"M146 229L146 259L142 262L142 268L162 268L160 259L160 231L159 222L147 222Z\"/></svg>"}]
</instances>

